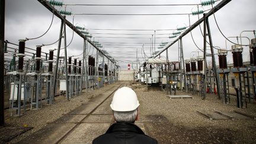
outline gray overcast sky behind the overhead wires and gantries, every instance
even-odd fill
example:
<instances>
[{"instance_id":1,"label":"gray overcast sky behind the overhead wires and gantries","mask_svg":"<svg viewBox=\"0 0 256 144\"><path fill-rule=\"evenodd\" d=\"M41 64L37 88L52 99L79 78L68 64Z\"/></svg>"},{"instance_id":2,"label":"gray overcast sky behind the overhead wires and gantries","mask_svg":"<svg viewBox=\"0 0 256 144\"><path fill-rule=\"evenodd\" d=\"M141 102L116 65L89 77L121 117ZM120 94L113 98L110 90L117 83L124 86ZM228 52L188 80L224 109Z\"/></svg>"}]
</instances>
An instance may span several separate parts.
<instances>
[{"instance_id":1,"label":"gray overcast sky behind the overhead wires and gantries","mask_svg":"<svg viewBox=\"0 0 256 144\"><path fill-rule=\"evenodd\" d=\"M65 0L64 4L200 4L200 0L140 0L140 1L124 1L124 0L109 0L109 1L81 1L81 0ZM218 4L219 2L216 2ZM215 5L216 5L215 4ZM216 12L216 20L220 29L226 37L239 36L243 30L255 30L255 0L233 0L225 7ZM67 11L72 13L100 13L100 14L188 14L196 9L196 6L166 6L166 7L95 7L95 6L68 6ZM210 9L211 6L200 9ZM56 9L65 9L56 7ZM202 17L203 15L200 15ZM197 16L190 16L191 24L198 20ZM135 15L73 15L67 16L67 19L74 25L85 26L88 29L94 28L112 28L112 29L173 29L183 25L189 26L188 15L150 15L150 16L135 16ZM6 17L5 17L5 39L12 43L18 43L19 39L33 38L43 34L50 25L52 20L52 12L44 8L40 2L36 0L8 0L6 1ZM213 44L225 49L225 38L220 34L216 27L213 16L209 18L210 28L212 31ZM40 39L27 41L26 46L36 49L36 45L49 44L56 41L59 36L60 20L54 17L53 25L49 32ZM203 28L203 25L201 25ZM151 34L154 31L107 31L107 30L89 30L100 41L104 49L111 56L119 60L121 69L127 69L128 63L136 62L136 49L138 50L139 60L143 62L142 44L151 43ZM172 41L174 39L167 38L173 31L156 31L156 37L166 37L156 39L156 43L162 41ZM104 33L104 34L97 34ZM67 43L72 39L72 30L67 28ZM132 34L132 35L131 35ZM133 35L136 34L136 35ZM145 35L142 35L145 34ZM197 27L192 31L196 44L202 49L203 36L200 28ZM244 33L242 36L254 37L253 33ZM125 38L106 38L106 37L140 37L139 39ZM236 39L231 39L236 42ZM123 44L120 44L123 43ZM248 40L243 40L244 44L248 44ZM113 44L113 45L112 45ZM136 46L131 46L135 45ZM228 43L228 50L231 49L231 43ZM78 35L74 34L74 38L68 47L68 56L79 55L82 53L83 40ZM151 49L145 44L145 53L151 56ZM156 44L157 50L158 44ZM195 57L196 48L191 39L191 35L187 34L183 38L184 59ZM57 44L46 46L43 52L49 52L49 49L56 49ZM95 50L89 49L89 55L95 55ZM169 48L169 60L178 61L178 43ZM215 52L216 53L216 52ZM244 47L244 61L248 61L249 48ZM56 52L55 52L56 55ZM63 55L63 52L60 52ZM162 54L165 56L165 53ZM202 54L201 54L202 55ZM217 59L216 59L217 60ZM232 53L228 53L228 62L232 63ZM135 67L135 64L133 65Z\"/></svg>"}]
</instances>

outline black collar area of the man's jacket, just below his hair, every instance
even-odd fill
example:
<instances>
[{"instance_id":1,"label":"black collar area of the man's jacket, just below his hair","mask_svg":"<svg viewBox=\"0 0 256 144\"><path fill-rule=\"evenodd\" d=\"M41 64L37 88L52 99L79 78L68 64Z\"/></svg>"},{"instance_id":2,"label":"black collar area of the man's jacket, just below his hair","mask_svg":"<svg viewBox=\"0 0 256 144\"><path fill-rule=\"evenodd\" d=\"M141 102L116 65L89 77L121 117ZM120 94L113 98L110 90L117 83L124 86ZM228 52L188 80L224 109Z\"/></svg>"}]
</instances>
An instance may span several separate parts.
<instances>
[{"instance_id":1,"label":"black collar area of the man's jacket, just below his hair","mask_svg":"<svg viewBox=\"0 0 256 144\"><path fill-rule=\"evenodd\" d=\"M145 133L133 123L114 123L112 124L106 133L112 132L134 132L145 135Z\"/></svg>"}]
</instances>

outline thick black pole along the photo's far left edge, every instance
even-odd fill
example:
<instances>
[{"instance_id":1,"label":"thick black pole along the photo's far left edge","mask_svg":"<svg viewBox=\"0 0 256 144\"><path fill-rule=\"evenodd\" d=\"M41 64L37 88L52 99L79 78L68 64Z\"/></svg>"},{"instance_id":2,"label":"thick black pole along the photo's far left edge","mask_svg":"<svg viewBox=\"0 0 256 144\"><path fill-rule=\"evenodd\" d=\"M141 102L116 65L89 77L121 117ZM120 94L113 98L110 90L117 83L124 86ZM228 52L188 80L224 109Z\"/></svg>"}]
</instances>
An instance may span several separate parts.
<instances>
[{"instance_id":1,"label":"thick black pole along the photo's far left edge","mask_svg":"<svg viewBox=\"0 0 256 144\"><path fill-rule=\"evenodd\" d=\"M5 0L0 1L0 126L4 126L4 31Z\"/></svg>"}]
</instances>

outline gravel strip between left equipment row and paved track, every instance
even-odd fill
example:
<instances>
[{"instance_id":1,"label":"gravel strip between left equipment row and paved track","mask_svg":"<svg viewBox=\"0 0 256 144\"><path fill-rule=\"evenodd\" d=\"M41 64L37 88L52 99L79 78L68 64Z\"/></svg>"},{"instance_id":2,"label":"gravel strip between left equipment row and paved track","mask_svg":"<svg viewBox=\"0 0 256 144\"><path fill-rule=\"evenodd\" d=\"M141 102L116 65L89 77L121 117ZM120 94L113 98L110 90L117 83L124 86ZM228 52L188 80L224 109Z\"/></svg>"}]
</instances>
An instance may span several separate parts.
<instances>
[{"instance_id":1,"label":"gravel strip between left equipment row and paved track","mask_svg":"<svg viewBox=\"0 0 256 144\"><path fill-rule=\"evenodd\" d=\"M87 103L91 98L95 97L98 94L107 91L113 85L120 84L116 82L111 85L106 85L103 88L95 89L94 91L86 92L85 89L82 92L82 95L74 96L70 101L66 100L65 96L59 96L55 98L55 104L47 105L46 101L43 101L43 108L40 110L29 110L26 111L24 116L21 117L10 117L10 111L5 110L5 123L14 127L33 127L32 130L24 133L23 135L18 136L10 143L18 142L26 136L31 135L31 133L36 132L42 127L46 126L48 123L51 123L61 117L63 114L69 113L69 111L74 110L83 103Z\"/></svg>"}]
</instances>

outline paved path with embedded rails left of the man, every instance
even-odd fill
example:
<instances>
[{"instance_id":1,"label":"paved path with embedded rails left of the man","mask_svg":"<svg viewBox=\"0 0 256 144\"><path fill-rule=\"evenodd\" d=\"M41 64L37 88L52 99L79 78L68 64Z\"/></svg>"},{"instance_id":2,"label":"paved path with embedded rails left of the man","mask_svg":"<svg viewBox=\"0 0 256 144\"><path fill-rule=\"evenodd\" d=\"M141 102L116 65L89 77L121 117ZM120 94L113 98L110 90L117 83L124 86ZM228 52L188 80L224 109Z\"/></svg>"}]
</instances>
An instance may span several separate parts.
<instances>
[{"instance_id":1,"label":"paved path with embedded rails left of the man","mask_svg":"<svg viewBox=\"0 0 256 144\"><path fill-rule=\"evenodd\" d=\"M60 119L53 121L53 123L47 124L43 129L38 130L31 136L25 137L18 143L91 143L95 136L104 133L110 126L110 123L114 122L111 119L105 119L111 116L109 115L111 113L110 110L105 111L105 109L107 110L107 108L104 108L105 104L99 108L98 106L105 100L109 101L109 97L113 92L124 84L123 82L113 85L103 94L97 95L88 103L63 115ZM96 109L97 111L104 111L103 117L94 115L94 113L98 113L95 111Z\"/></svg>"}]
</instances>

